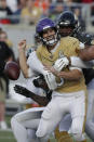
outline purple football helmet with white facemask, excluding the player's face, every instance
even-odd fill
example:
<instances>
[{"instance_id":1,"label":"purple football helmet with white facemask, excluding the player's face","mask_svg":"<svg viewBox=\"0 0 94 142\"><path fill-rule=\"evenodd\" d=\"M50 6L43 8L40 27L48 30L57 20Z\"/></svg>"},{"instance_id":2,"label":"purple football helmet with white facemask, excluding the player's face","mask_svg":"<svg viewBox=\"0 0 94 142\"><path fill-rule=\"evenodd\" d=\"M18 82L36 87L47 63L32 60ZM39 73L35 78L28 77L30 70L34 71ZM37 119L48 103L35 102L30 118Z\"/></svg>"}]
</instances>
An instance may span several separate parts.
<instances>
[{"instance_id":1,"label":"purple football helmet with white facemask, excluding the player's face","mask_svg":"<svg viewBox=\"0 0 94 142\"><path fill-rule=\"evenodd\" d=\"M53 28L55 30L55 35L53 37L53 39L51 40L46 40L42 37L42 34L45 29L49 29L49 28ZM40 40L42 41L43 44L45 46L53 46L57 42L58 40L58 34L57 34L57 29L56 29L56 26L55 26L55 23L50 20L49 17L45 17L45 18L42 18L39 21L37 27L36 27L36 33L39 35L40 37Z\"/></svg>"}]
</instances>

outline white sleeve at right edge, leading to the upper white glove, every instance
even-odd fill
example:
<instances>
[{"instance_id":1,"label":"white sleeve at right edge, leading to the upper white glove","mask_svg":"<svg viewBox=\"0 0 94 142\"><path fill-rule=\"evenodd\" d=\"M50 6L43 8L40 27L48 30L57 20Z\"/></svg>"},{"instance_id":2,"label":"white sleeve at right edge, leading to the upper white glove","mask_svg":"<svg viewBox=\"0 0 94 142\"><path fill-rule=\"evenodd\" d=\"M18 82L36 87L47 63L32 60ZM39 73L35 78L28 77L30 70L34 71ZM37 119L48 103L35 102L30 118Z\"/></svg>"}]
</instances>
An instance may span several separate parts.
<instances>
[{"instance_id":1,"label":"white sleeve at right edge, leading to the upper white glove","mask_svg":"<svg viewBox=\"0 0 94 142\"><path fill-rule=\"evenodd\" d=\"M78 56L71 56L70 62L71 62L71 66L76 66L80 68L92 68L94 65L94 62L92 61L84 62Z\"/></svg>"}]
</instances>

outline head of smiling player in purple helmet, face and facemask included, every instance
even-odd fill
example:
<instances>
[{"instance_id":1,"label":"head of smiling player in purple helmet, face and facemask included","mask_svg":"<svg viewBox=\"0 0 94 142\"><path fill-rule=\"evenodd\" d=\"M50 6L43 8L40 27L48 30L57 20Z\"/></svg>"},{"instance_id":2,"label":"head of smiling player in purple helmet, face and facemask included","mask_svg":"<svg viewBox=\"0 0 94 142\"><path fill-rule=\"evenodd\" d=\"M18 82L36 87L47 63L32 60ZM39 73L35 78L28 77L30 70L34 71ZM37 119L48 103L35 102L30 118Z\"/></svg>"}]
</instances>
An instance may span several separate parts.
<instances>
[{"instance_id":1,"label":"head of smiling player in purple helmet, face and facemask included","mask_svg":"<svg viewBox=\"0 0 94 142\"><path fill-rule=\"evenodd\" d=\"M56 24L48 17L39 21L36 31L46 47L53 47L59 39Z\"/></svg>"}]
</instances>

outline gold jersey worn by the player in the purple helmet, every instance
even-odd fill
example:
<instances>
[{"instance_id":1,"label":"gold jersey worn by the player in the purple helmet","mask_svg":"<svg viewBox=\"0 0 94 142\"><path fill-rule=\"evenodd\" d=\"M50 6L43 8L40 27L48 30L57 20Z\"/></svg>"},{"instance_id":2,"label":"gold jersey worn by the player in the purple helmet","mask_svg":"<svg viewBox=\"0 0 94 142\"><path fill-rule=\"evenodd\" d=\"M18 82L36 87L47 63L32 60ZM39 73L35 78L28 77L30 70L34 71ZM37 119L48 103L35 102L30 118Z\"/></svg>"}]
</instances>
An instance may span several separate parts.
<instances>
[{"instance_id":1,"label":"gold jersey worn by the player in the purple helmet","mask_svg":"<svg viewBox=\"0 0 94 142\"><path fill-rule=\"evenodd\" d=\"M55 61L61 57L63 54L70 57L72 55L78 56L78 53L76 50L80 49L79 47L80 42L78 39L72 37L65 37L62 38L59 41L59 46L55 50L55 52L50 53L46 49L46 47L41 46L37 50L37 56L42 62L42 64L45 65L53 65ZM69 68L65 68L63 70L69 72ZM59 88L57 88L55 91L63 93L63 92L75 92L80 90L85 90L85 81L84 76L82 75L81 79L79 80L66 80L64 81L64 85Z\"/></svg>"}]
</instances>

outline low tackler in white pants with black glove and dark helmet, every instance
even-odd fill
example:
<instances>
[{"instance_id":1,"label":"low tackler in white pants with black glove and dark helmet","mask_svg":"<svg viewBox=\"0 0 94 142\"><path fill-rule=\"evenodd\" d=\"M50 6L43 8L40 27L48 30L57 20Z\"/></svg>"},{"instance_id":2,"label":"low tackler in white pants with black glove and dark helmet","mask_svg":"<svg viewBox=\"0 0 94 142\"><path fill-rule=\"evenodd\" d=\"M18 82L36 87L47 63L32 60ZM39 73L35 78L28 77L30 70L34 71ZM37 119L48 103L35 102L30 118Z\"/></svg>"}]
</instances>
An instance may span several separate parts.
<instances>
[{"instance_id":1,"label":"low tackler in white pants with black glove and dark helmet","mask_svg":"<svg viewBox=\"0 0 94 142\"><path fill-rule=\"evenodd\" d=\"M44 79L42 76L38 76L33 79L33 85L37 86L31 88L31 83L29 83L30 86L30 90L27 90L24 87L21 87L19 85L16 85L14 87L14 90L16 93L18 94L23 94L27 98L31 98L32 100L35 100L37 103L39 103L41 106L45 106L49 102L50 102L50 98L51 98L51 93L48 89L45 89L45 95L43 92L36 92L36 90L33 91L33 88L37 89L37 91L39 90L39 86L40 87L44 87ZM45 85L46 86L46 85ZM36 92L36 94L33 93ZM42 95L41 95L42 94ZM17 140L17 142L29 142L33 141L33 142L39 142L37 140L36 137L36 131L41 118L41 114L43 112L44 107L35 107L35 108L28 108L26 111L23 111L22 113L16 114L15 116L13 116L12 120L11 120L11 126L14 132L14 135ZM30 137L28 135L27 130L30 129Z\"/></svg>"}]
</instances>

